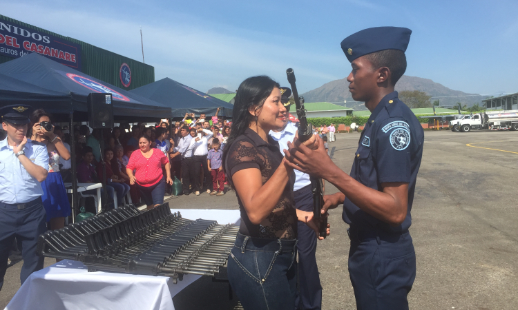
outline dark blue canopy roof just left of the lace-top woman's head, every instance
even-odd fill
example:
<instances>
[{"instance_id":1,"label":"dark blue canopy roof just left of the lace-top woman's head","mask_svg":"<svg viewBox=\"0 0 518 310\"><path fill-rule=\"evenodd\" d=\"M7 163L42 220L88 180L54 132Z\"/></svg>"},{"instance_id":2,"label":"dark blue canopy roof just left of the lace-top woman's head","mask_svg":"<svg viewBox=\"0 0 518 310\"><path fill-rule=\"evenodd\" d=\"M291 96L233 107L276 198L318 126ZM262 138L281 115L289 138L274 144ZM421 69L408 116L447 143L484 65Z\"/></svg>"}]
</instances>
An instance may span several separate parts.
<instances>
[{"instance_id":1,"label":"dark blue canopy roof just left of the lace-top woman's head","mask_svg":"<svg viewBox=\"0 0 518 310\"><path fill-rule=\"evenodd\" d=\"M204 113L212 116L218 107L219 116L232 117L233 105L230 103L169 78L135 88L130 92L171 107L172 117L184 117L186 113Z\"/></svg>"}]
</instances>

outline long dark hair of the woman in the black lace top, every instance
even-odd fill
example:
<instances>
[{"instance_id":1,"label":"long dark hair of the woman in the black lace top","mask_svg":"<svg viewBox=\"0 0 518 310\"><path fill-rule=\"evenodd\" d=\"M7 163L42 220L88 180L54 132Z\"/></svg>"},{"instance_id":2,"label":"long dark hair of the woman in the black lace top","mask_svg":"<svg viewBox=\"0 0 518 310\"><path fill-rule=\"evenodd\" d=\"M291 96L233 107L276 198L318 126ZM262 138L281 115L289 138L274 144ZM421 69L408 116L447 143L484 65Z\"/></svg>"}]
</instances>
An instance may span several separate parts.
<instances>
[{"instance_id":1,"label":"long dark hair of the woman in the black lace top","mask_svg":"<svg viewBox=\"0 0 518 310\"><path fill-rule=\"evenodd\" d=\"M249 107L255 105L256 111L259 110L265 103L268 96L274 90L274 88L280 88L279 83L272 80L269 76L252 76L242 81L239 85L238 91L236 92L234 109L232 112L232 126L230 135L223 150L223 169L228 173L227 169L227 156L229 155L229 149L238 136L244 134L250 123L254 121L253 116L248 112ZM231 182L230 175L227 175ZM233 186L232 186L233 187Z\"/></svg>"}]
</instances>

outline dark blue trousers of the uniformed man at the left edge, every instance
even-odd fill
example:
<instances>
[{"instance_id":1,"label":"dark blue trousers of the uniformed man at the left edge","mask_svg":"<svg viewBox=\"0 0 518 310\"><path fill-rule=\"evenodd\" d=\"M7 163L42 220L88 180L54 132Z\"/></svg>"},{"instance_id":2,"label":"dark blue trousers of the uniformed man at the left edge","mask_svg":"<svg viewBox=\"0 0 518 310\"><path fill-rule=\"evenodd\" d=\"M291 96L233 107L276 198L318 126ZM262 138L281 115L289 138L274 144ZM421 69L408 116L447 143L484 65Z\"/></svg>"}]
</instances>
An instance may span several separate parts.
<instances>
[{"instance_id":1,"label":"dark blue trousers of the uniformed man at the left edge","mask_svg":"<svg viewBox=\"0 0 518 310\"><path fill-rule=\"evenodd\" d=\"M26 203L24 209L18 205L0 203L0 290L6 275L7 260L15 238L21 242L23 266L20 282L23 284L30 273L44 266L44 258L36 255L38 236L47 230L46 212L41 198Z\"/></svg>"}]
</instances>

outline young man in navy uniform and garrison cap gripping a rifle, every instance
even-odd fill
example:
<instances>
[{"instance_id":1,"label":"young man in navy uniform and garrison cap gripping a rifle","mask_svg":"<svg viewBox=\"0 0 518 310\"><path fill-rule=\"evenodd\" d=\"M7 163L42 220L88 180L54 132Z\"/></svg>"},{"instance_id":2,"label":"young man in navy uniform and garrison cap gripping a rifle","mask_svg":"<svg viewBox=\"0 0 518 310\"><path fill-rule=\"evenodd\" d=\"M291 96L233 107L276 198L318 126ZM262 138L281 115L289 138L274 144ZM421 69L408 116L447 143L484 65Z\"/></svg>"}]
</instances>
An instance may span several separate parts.
<instances>
[{"instance_id":1,"label":"young man in navy uniform and garrison cap gripping a rifle","mask_svg":"<svg viewBox=\"0 0 518 310\"><path fill-rule=\"evenodd\" d=\"M347 77L355 101L372 112L358 141L350 175L318 149L289 145L292 167L333 183L340 192L325 196L323 213L343 204L350 227L349 276L358 309L408 309L407 294L416 275L408 232L424 132L394 85L406 70L405 50L412 31L378 27L345 38L351 62Z\"/></svg>"}]
</instances>

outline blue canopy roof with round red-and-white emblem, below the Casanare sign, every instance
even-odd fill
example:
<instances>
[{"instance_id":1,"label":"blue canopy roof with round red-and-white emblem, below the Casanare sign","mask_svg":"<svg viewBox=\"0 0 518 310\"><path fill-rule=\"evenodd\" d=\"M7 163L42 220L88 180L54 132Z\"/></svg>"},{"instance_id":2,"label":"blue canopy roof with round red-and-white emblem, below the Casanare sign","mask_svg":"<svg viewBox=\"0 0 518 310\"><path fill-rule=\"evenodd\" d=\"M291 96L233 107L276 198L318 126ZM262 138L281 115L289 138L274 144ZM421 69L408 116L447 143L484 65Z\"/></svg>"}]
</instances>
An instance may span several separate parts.
<instances>
[{"instance_id":1,"label":"blue canopy roof with round red-and-white emblem, below the Casanare sign","mask_svg":"<svg viewBox=\"0 0 518 310\"><path fill-rule=\"evenodd\" d=\"M23 91L26 87L26 93L30 93L29 86L37 94L43 95L44 92L55 92L61 96L68 96L68 105L57 104L55 107L48 106L49 112L54 114L77 113L76 120L86 120L87 106L86 97L91 92L107 92L113 97L113 114L115 120L128 121L157 121L164 115L171 114L171 108L160 103L146 99L137 94L133 94L119 87L110 85L103 81L88 76L77 70L61 65L37 53L28 54L0 65L0 74L8 76L12 79L20 81L18 87ZM12 83L15 80L12 80ZM13 86L14 87L14 86ZM43 90L41 90L43 89ZM37 91L40 92L37 92ZM0 92L0 100L6 96L5 92ZM37 102L30 103L35 107L44 107L37 105ZM61 110L62 109L62 110ZM79 119L78 119L79 118Z\"/></svg>"}]
</instances>

